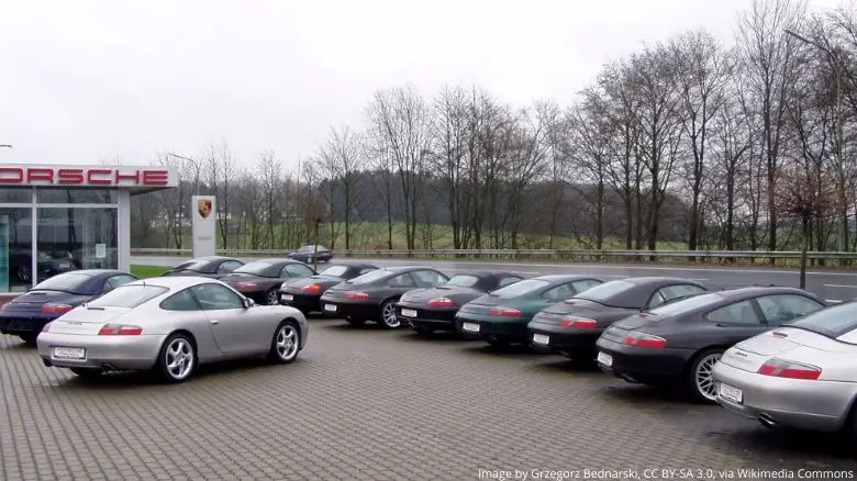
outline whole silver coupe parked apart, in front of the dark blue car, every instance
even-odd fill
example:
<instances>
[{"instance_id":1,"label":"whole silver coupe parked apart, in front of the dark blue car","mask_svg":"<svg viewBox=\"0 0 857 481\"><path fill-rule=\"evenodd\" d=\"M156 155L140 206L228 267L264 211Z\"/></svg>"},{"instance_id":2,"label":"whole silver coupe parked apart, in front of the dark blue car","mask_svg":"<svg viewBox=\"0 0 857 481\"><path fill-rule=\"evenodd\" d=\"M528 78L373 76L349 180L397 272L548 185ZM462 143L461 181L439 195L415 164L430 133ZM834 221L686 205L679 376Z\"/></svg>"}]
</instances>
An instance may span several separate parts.
<instances>
[{"instance_id":1,"label":"whole silver coupe parked apart, in front of the dark blue car","mask_svg":"<svg viewBox=\"0 0 857 481\"><path fill-rule=\"evenodd\" d=\"M129 282L48 323L36 339L45 366L81 377L155 370L181 382L198 366L267 356L288 363L307 344L303 314L255 303L207 278Z\"/></svg>"}]
</instances>

